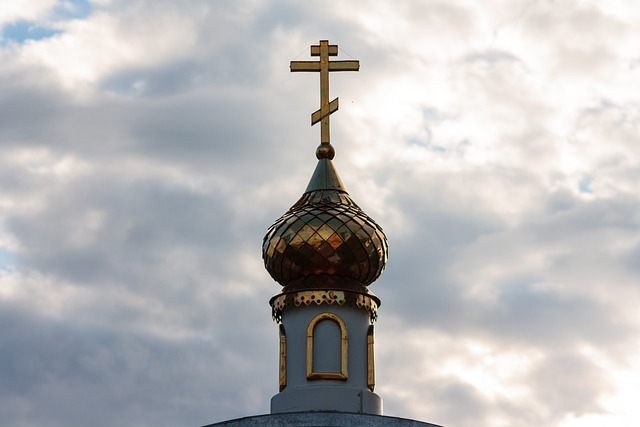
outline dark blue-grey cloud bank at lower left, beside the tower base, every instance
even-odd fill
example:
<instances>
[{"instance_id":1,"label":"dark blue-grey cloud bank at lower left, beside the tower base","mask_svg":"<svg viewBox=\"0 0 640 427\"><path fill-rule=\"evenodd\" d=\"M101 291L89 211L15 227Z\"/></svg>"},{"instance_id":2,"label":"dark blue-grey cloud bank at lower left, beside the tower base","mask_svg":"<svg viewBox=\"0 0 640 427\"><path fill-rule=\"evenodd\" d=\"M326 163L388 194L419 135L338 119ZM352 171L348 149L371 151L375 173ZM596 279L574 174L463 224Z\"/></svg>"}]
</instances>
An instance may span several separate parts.
<instances>
[{"instance_id":1,"label":"dark blue-grey cloud bank at lower left, beside the tower base","mask_svg":"<svg viewBox=\"0 0 640 427\"><path fill-rule=\"evenodd\" d=\"M0 308L6 425L194 426L265 411L251 378L269 365L252 349L273 346L250 325L171 340Z\"/></svg>"}]
</instances>

